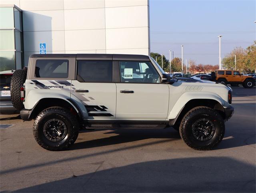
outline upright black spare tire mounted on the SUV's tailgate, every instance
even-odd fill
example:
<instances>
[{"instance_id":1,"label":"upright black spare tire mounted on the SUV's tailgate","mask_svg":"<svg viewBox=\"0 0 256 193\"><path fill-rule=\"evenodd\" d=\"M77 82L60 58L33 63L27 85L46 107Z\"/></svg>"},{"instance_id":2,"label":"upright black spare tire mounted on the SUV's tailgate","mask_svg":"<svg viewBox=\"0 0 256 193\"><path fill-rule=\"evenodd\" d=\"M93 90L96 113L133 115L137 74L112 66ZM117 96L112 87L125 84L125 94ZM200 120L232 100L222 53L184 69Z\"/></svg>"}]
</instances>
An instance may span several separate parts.
<instances>
[{"instance_id":1,"label":"upright black spare tire mounted on the SUV's tailgate","mask_svg":"<svg viewBox=\"0 0 256 193\"><path fill-rule=\"evenodd\" d=\"M24 108L23 101L21 100L20 96L20 87L26 81L27 72L26 69L20 69L14 71L11 79L11 99L14 108L18 110L22 110Z\"/></svg>"}]
</instances>

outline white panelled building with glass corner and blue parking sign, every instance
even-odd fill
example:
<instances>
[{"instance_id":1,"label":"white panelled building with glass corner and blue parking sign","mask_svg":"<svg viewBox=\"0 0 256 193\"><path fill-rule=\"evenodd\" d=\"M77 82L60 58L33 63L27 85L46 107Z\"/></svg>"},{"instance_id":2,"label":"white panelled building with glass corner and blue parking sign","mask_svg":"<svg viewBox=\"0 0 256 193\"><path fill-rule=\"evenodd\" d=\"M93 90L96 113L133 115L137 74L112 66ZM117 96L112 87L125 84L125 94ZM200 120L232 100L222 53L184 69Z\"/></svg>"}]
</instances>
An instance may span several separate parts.
<instances>
[{"instance_id":1,"label":"white panelled building with glass corner and blue parking sign","mask_svg":"<svg viewBox=\"0 0 256 193\"><path fill-rule=\"evenodd\" d=\"M0 0L0 71L35 53L149 55L149 2Z\"/></svg>"}]
</instances>

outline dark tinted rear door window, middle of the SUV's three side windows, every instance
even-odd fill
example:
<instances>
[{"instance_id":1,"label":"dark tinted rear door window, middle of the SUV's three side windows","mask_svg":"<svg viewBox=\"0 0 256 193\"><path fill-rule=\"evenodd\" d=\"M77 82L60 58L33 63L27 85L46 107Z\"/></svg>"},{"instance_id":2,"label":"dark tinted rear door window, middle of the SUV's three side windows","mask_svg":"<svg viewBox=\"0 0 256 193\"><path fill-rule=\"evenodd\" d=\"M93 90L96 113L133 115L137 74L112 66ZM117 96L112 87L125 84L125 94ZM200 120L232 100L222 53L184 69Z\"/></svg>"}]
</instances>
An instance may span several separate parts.
<instances>
[{"instance_id":1,"label":"dark tinted rear door window, middle of the SUV's three side windows","mask_svg":"<svg viewBox=\"0 0 256 193\"><path fill-rule=\"evenodd\" d=\"M79 60L79 82L112 83L112 60Z\"/></svg>"}]
</instances>

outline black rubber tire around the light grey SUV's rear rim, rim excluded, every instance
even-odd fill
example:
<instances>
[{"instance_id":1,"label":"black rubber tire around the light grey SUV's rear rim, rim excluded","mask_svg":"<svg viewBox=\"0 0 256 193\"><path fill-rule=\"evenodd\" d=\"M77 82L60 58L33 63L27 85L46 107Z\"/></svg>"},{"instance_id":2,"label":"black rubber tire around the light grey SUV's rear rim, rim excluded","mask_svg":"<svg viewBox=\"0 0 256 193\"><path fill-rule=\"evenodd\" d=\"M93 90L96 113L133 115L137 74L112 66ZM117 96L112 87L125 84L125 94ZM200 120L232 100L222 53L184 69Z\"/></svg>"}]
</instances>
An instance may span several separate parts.
<instances>
[{"instance_id":1,"label":"black rubber tire around the light grey SUV's rear rim, rim excluded","mask_svg":"<svg viewBox=\"0 0 256 193\"><path fill-rule=\"evenodd\" d=\"M43 132L44 124L50 119L59 119L66 124L67 134L59 142L52 142L46 138ZM68 149L78 137L79 124L76 116L62 107L46 108L38 114L33 125L33 134L36 142L44 149L50 151L62 151Z\"/></svg>"}]
</instances>

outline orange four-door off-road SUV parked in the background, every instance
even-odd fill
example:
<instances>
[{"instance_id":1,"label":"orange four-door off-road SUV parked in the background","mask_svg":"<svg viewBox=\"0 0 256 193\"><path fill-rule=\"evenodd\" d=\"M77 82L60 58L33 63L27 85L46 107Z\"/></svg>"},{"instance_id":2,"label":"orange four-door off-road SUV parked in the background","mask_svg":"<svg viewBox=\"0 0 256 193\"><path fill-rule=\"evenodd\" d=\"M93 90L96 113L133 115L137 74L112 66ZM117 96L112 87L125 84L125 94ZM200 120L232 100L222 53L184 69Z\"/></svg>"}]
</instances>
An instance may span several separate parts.
<instances>
[{"instance_id":1,"label":"orange four-door off-road SUV parked in the background","mask_svg":"<svg viewBox=\"0 0 256 193\"><path fill-rule=\"evenodd\" d=\"M212 81L224 82L236 87L242 84L244 88L252 88L255 86L255 79L251 76L242 75L239 71L234 70L217 70L212 72Z\"/></svg>"}]
</instances>

